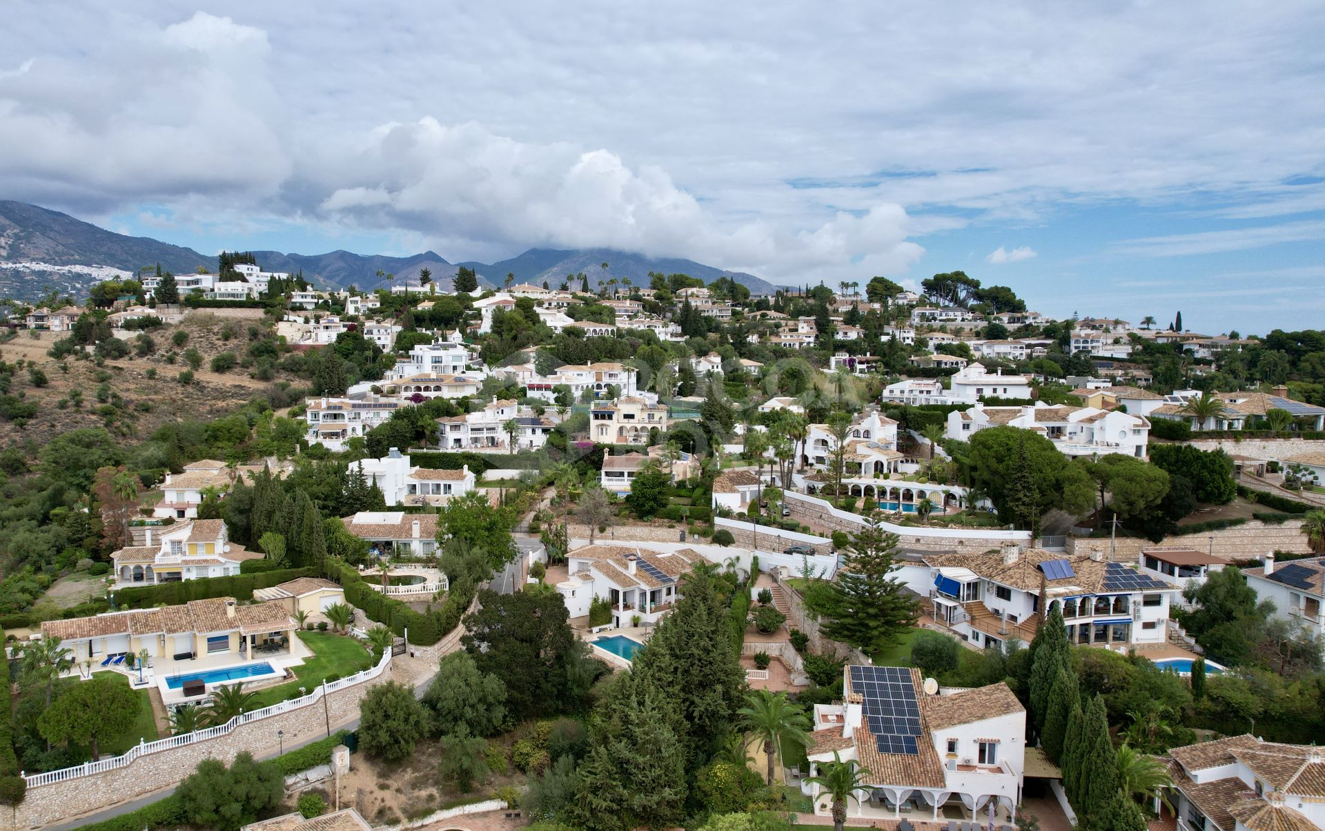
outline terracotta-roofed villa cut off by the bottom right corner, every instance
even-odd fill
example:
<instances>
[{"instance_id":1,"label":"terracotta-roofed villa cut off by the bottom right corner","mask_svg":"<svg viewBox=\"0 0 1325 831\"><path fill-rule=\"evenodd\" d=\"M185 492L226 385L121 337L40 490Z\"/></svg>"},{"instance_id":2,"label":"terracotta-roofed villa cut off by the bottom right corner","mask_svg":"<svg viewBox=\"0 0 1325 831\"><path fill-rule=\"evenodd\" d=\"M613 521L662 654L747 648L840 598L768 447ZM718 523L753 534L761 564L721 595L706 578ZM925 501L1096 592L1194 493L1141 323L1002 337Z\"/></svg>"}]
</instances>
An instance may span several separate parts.
<instances>
[{"instance_id":1,"label":"terracotta-roofed villa cut off by the bottom right corner","mask_svg":"<svg viewBox=\"0 0 1325 831\"><path fill-rule=\"evenodd\" d=\"M1171 748L1179 831L1312 831L1325 827L1325 752L1255 736Z\"/></svg>"}]
</instances>

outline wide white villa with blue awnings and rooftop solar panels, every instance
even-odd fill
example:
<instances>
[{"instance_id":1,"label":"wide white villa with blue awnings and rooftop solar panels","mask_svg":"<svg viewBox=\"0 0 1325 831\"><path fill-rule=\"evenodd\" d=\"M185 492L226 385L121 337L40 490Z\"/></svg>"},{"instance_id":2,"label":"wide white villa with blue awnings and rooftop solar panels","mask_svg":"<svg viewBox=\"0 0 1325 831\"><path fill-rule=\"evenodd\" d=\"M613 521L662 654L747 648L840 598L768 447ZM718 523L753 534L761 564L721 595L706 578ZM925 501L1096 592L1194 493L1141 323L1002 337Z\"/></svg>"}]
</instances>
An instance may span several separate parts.
<instances>
[{"instance_id":1,"label":"wide white villa with blue awnings and rooftop solar panels","mask_svg":"<svg viewBox=\"0 0 1325 831\"><path fill-rule=\"evenodd\" d=\"M980 647L1030 643L1043 614L1057 609L1068 640L1081 646L1132 647L1165 643L1169 602L1177 589L1102 554L1019 550L1004 544L988 553L925 554L898 569L934 621Z\"/></svg>"}]
</instances>

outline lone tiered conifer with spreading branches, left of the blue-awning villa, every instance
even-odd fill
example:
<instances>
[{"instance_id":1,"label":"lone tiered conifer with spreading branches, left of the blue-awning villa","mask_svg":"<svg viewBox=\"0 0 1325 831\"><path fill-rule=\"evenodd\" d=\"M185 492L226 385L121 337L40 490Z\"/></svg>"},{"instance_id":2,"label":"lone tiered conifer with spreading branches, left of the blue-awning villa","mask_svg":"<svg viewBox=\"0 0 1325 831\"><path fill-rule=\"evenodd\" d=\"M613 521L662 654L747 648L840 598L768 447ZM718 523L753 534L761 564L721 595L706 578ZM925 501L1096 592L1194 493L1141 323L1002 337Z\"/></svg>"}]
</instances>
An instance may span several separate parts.
<instances>
[{"instance_id":1,"label":"lone tiered conifer with spreading branches, left of the blue-awning villa","mask_svg":"<svg viewBox=\"0 0 1325 831\"><path fill-rule=\"evenodd\" d=\"M815 611L824 635L873 652L910 629L920 611L905 585L890 577L898 568L897 536L882 529L877 511L867 523L852 536L837 580Z\"/></svg>"}]
</instances>

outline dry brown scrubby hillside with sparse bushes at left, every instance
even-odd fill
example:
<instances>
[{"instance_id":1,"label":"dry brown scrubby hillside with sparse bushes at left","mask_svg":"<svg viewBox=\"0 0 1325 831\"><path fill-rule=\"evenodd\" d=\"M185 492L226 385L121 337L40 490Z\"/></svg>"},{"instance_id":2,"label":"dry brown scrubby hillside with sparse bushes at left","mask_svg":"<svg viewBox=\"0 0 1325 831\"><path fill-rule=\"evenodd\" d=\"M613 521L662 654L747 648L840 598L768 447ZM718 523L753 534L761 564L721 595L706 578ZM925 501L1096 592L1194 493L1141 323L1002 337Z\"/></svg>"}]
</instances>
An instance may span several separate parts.
<instances>
[{"instance_id":1,"label":"dry brown scrubby hillside with sparse bushes at left","mask_svg":"<svg viewBox=\"0 0 1325 831\"><path fill-rule=\"evenodd\" d=\"M257 329L250 332L249 327ZM172 343L176 331L188 335L183 347ZM33 337L30 332L20 331L17 337L0 343L0 359L7 364L23 361L23 367L12 374L8 394L36 404L37 412L21 426L0 419L0 445L26 438L44 442L58 433L95 426L105 426L126 438L140 438L171 421L224 416L276 381L299 385L299 378L280 371L272 380L257 380L252 377L252 368L240 365L221 373L211 372L212 359L221 352L235 352L242 359L254 333L262 337L272 329L257 316L223 318L193 312L178 326L150 332L156 344L150 355L131 352L97 367L90 355L87 360L74 356L56 360L48 355L50 345L65 337L65 332L38 332ZM132 347L132 335L125 340ZM183 357L188 348L197 349L201 367L192 371L191 384L182 384L178 377L188 369ZM167 360L170 352L175 353L174 364ZM29 367L45 374L45 386L33 384Z\"/></svg>"}]
</instances>

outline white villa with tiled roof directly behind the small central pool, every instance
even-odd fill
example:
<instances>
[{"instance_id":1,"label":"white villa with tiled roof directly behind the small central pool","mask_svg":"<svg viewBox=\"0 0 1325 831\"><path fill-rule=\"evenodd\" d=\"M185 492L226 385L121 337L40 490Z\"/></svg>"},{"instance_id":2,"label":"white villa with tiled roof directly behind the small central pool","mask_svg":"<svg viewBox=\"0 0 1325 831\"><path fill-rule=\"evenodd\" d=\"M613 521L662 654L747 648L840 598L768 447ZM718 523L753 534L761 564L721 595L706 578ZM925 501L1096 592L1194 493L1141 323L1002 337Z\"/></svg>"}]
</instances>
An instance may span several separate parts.
<instances>
[{"instance_id":1,"label":"white villa with tiled roof directly behind the small central pool","mask_svg":"<svg viewBox=\"0 0 1325 831\"><path fill-rule=\"evenodd\" d=\"M556 584L570 617L588 614L594 598L612 605L612 626L657 623L680 597L680 578L696 562L697 552L682 548L660 553L620 545L586 545L567 554L570 577Z\"/></svg>"}]
</instances>

